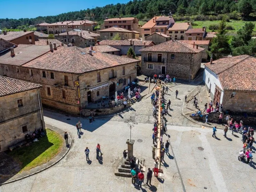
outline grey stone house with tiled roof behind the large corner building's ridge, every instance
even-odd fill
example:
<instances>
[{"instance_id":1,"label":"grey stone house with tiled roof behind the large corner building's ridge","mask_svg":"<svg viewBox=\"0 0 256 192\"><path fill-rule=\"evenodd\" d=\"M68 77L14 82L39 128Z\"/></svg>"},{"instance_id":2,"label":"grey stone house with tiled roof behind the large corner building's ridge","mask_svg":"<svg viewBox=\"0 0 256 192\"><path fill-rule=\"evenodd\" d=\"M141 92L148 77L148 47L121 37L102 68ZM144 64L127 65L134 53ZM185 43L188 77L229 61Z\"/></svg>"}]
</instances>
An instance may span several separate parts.
<instances>
[{"instance_id":1,"label":"grey stone house with tiled roof behind the large corner building's ridge","mask_svg":"<svg viewBox=\"0 0 256 192\"><path fill-rule=\"evenodd\" d=\"M95 45L95 39L91 36L84 34L82 31L67 31L54 35L55 39L68 45L78 47L88 47Z\"/></svg>"}]
</instances>

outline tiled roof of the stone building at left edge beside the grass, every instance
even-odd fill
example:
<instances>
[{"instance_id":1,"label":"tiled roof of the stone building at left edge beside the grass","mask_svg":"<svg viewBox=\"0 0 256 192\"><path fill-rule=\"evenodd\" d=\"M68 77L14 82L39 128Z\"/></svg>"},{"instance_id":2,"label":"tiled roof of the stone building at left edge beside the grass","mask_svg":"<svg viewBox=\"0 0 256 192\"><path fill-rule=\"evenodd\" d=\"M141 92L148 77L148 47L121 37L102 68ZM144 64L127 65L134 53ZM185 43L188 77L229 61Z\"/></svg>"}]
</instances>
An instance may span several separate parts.
<instances>
[{"instance_id":1,"label":"tiled roof of the stone building at left edge beside the grass","mask_svg":"<svg viewBox=\"0 0 256 192\"><path fill-rule=\"evenodd\" d=\"M9 77L0 76L0 97L25 92L32 89L38 89L42 85L20 81Z\"/></svg>"}]
</instances>

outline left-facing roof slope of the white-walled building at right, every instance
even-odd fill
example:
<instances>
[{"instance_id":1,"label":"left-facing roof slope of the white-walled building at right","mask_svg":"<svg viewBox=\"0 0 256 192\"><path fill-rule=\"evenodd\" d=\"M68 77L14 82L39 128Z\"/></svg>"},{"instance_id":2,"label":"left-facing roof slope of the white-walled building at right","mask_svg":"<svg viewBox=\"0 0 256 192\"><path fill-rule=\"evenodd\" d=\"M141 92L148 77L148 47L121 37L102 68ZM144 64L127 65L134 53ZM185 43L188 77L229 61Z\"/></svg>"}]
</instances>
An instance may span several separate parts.
<instances>
[{"instance_id":1,"label":"left-facing roof slope of the white-walled building at right","mask_svg":"<svg viewBox=\"0 0 256 192\"><path fill-rule=\"evenodd\" d=\"M218 60L215 60L210 64L210 62L205 63L204 65L208 67L211 71L215 74L219 74L228 68L232 67L233 65L245 60L248 58L248 55L238 55L234 57L223 57Z\"/></svg>"}]
</instances>

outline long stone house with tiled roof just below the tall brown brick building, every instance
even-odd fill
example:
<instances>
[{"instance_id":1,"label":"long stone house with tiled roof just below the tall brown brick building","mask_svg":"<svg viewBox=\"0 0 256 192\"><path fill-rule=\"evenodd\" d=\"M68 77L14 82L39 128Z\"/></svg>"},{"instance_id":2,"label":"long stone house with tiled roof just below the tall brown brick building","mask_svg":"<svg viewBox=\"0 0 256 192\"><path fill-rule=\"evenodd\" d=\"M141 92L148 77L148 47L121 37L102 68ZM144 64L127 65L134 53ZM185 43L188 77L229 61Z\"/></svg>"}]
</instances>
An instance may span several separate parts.
<instances>
[{"instance_id":1,"label":"long stone house with tiled roof just below the tall brown brick building","mask_svg":"<svg viewBox=\"0 0 256 192\"><path fill-rule=\"evenodd\" d=\"M121 40L125 39L139 39L139 32L130 31L123 28L111 27L98 31L100 34L100 40L113 40L116 34L119 34Z\"/></svg>"}]
</instances>

